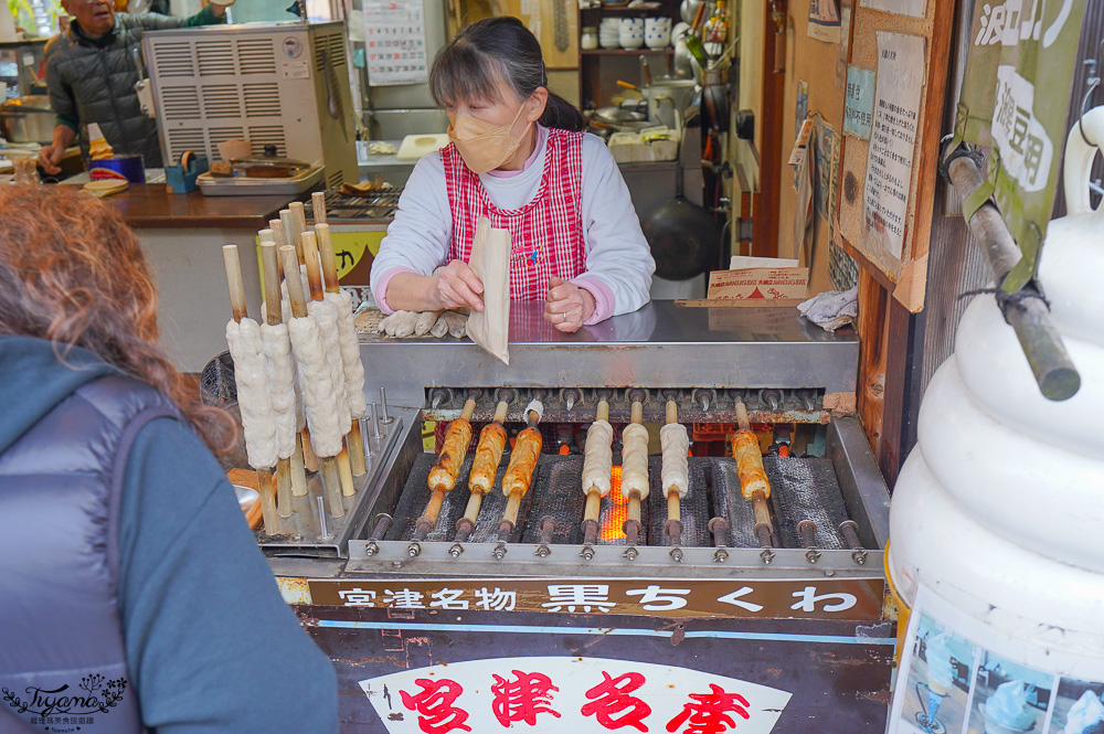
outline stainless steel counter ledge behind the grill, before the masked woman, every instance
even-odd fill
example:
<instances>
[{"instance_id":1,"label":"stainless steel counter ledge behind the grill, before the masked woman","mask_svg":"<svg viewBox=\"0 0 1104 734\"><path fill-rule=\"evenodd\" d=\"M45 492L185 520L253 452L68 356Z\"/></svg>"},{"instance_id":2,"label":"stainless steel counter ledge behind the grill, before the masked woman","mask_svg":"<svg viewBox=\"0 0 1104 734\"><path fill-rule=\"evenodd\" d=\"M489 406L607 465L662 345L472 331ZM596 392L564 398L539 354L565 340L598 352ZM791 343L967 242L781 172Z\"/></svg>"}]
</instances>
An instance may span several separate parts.
<instances>
[{"instance_id":1,"label":"stainless steel counter ledge behind the grill, before the masked woman","mask_svg":"<svg viewBox=\"0 0 1104 734\"><path fill-rule=\"evenodd\" d=\"M362 337L369 395L383 386L390 402L421 407L437 386L854 391L858 337L829 334L794 308L652 301L573 334L544 321L543 308L511 305L509 365L467 339Z\"/></svg>"}]
</instances>

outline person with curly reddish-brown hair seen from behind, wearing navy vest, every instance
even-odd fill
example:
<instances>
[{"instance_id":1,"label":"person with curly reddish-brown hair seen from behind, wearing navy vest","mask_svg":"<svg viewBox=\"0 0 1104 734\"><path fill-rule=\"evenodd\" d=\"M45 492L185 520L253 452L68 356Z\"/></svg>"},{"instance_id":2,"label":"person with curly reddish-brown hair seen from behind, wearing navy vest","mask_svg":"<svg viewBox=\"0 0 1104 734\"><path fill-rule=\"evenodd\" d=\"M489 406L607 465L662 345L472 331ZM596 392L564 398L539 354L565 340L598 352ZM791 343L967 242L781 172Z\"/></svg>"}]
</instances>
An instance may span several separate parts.
<instances>
[{"instance_id":1,"label":"person with curly reddish-brown hair seen from behind, wearing navy vest","mask_svg":"<svg viewBox=\"0 0 1104 734\"><path fill-rule=\"evenodd\" d=\"M0 211L0 732L336 732L137 238L71 187Z\"/></svg>"}]
</instances>

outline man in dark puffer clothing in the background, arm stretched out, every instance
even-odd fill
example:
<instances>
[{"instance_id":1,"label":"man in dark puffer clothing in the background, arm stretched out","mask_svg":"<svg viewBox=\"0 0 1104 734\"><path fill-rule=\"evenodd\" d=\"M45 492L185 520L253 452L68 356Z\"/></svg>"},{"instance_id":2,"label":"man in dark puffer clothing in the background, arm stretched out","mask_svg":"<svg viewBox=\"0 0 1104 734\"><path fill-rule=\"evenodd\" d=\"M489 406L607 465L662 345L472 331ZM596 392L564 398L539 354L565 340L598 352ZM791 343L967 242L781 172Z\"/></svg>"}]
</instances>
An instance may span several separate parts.
<instances>
[{"instance_id":1,"label":"man in dark puffer clothing in the background, arm stretched out","mask_svg":"<svg viewBox=\"0 0 1104 734\"><path fill-rule=\"evenodd\" d=\"M190 18L156 12L117 13L112 0L62 0L72 20L65 33L46 44L43 62L50 106L57 116L54 139L39 151L46 173L57 166L65 149L79 137L88 157L88 124L96 123L116 155L140 155L146 168L161 168L157 123L141 111L135 84L138 70L132 52L141 52L146 31L226 22L234 0L211 2Z\"/></svg>"}]
</instances>

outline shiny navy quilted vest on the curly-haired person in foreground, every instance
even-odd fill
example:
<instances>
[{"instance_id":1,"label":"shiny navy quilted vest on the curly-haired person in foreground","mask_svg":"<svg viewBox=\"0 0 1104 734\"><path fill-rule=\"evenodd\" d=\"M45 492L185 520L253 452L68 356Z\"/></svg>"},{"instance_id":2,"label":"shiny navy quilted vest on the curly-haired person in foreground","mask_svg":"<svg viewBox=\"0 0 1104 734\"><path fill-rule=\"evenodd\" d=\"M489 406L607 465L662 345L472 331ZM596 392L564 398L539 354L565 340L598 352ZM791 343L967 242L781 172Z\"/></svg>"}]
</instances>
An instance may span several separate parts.
<instances>
[{"instance_id":1,"label":"shiny navy quilted vest on the curly-haired person in foreground","mask_svg":"<svg viewBox=\"0 0 1104 734\"><path fill-rule=\"evenodd\" d=\"M181 416L157 390L109 375L0 455L0 731L142 731L119 618L118 517L130 447L160 417Z\"/></svg>"}]
</instances>

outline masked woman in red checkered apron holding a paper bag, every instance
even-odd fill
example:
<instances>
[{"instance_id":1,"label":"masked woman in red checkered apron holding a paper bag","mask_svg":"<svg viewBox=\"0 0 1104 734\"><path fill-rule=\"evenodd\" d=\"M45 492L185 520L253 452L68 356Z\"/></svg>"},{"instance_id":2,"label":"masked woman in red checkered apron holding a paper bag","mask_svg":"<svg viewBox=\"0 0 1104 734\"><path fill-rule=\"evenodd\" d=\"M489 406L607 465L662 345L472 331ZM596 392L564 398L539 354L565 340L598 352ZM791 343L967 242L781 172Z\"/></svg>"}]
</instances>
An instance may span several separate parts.
<instances>
[{"instance_id":1,"label":"masked woman in red checkered apron holding a paper bag","mask_svg":"<svg viewBox=\"0 0 1104 734\"><path fill-rule=\"evenodd\" d=\"M648 302L655 260L608 148L548 91L541 46L514 18L479 21L434 60L452 140L418 161L372 265L381 309L482 310L468 266L481 216L511 235L510 297L575 331Z\"/></svg>"}]
</instances>

